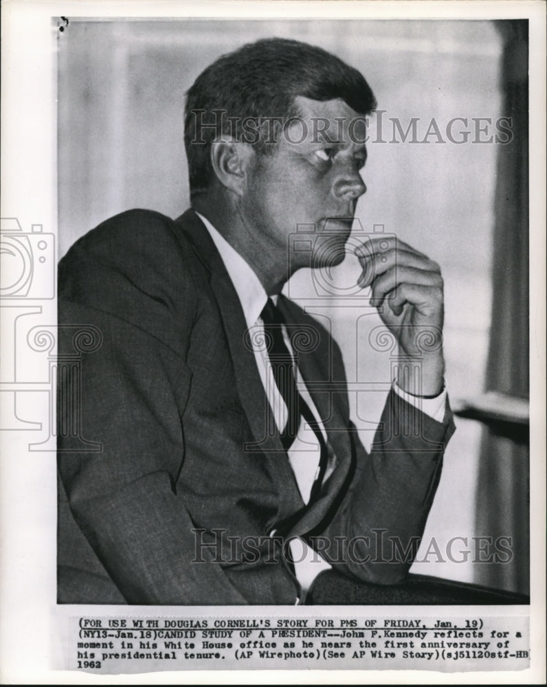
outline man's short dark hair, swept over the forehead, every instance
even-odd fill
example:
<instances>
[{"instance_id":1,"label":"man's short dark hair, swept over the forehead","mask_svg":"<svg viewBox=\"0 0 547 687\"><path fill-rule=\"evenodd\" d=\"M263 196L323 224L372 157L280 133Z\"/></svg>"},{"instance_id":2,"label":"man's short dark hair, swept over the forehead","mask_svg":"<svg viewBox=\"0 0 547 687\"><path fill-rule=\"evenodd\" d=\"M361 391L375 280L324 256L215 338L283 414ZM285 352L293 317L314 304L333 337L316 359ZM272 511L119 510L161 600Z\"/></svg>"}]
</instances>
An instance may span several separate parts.
<instances>
[{"instance_id":1,"label":"man's short dark hair, swept over the forehead","mask_svg":"<svg viewBox=\"0 0 547 687\"><path fill-rule=\"evenodd\" d=\"M269 120L271 127L274 117L283 123L298 117L297 95L321 101L341 98L360 115L376 107L374 94L357 69L300 41L265 38L207 67L186 93L184 144L190 194L205 190L213 179L210 151L214 139L232 135L253 143L257 153L268 153L273 146L265 144L260 124ZM245 122L252 121L254 128L247 128ZM269 142L275 139L270 137Z\"/></svg>"}]
</instances>

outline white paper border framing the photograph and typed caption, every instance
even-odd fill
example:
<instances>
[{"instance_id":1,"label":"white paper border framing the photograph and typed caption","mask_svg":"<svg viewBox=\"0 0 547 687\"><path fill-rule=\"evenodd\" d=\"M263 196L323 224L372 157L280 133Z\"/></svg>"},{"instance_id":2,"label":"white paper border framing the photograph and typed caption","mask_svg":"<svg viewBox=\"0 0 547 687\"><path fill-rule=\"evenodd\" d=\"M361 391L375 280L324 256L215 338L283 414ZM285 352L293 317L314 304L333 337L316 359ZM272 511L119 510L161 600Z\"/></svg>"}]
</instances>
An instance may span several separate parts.
<instances>
[{"instance_id":1,"label":"white paper border framing the photograph and typed caption","mask_svg":"<svg viewBox=\"0 0 547 687\"><path fill-rule=\"evenodd\" d=\"M2 432L0 671L19 684L542 684L545 679L545 25L542 1L208 2L7 0L2 5L1 216L23 227L57 227L56 53L60 16L96 18L359 18L530 20L531 198L531 668L489 673L434 671L184 671L91 675L52 669L58 616L55 604L55 454L30 456L16 432ZM33 304L34 305L34 304ZM44 300L54 323L54 300ZM1 313L3 324L8 322ZM2 352L9 333L3 330ZM35 401L33 401L35 402ZM86 607L79 607L84 613ZM105 607L89 607L95 615ZM133 609L134 607L128 607ZM320 607L317 607L320 608ZM112 612L111 609L110 612ZM148 609L150 611L150 609ZM165 613L159 607L157 614ZM230 609L223 607L223 615ZM234 611L237 612L237 611ZM368 609L368 614L373 613ZM260 607L254 608L260 613ZM105 613L106 614L106 613Z\"/></svg>"}]
</instances>

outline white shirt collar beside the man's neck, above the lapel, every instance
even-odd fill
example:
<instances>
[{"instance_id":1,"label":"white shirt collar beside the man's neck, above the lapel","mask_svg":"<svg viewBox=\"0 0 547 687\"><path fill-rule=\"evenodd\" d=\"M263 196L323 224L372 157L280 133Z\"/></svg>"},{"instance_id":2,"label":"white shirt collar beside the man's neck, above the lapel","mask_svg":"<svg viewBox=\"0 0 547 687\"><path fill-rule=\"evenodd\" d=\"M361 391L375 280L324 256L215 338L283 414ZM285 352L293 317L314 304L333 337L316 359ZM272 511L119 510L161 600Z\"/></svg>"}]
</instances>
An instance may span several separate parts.
<instances>
[{"instance_id":1,"label":"white shirt collar beside the man's neck, above the lapel","mask_svg":"<svg viewBox=\"0 0 547 687\"><path fill-rule=\"evenodd\" d=\"M236 249L231 246L221 234L219 234L208 218L199 214L199 212L196 212L196 214L205 227L207 227L214 245L221 255L224 267L230 276L230 280L232 280L232 284L234 284L234 289L236 289L239 302L243 308L247 327L252 327L256 323L258 317L260 317L260 313L262 313L266 301L268 300L268 295L264 286L260 283L260 280L249 263L238 254Z\"/></svg>"}]
</instances>

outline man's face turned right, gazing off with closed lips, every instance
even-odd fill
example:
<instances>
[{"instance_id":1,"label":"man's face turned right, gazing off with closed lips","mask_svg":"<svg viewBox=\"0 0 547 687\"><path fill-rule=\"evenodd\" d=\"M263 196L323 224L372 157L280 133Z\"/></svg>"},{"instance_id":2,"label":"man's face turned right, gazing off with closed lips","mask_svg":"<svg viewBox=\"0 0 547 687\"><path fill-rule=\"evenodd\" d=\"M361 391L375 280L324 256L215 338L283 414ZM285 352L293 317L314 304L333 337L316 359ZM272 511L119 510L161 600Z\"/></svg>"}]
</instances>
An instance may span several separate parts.
<instances>
[{"instance_id":1,"label":"man's face turned right, gazing off with closed lips","mask_svg":"<svg viewBox=\"0 0 547 687\"><path fill-rule=\"evenodd\" d=\"M340 99L320 102L298 96L300 117L285 126L269 155L254 155L241 211L276 254L287 256L291 272L344 259L355 206L366 191L360 170L366 161L364 117ZM298 225L309 232L306 251L287 254Z\"/></svg>"}]
</instances>

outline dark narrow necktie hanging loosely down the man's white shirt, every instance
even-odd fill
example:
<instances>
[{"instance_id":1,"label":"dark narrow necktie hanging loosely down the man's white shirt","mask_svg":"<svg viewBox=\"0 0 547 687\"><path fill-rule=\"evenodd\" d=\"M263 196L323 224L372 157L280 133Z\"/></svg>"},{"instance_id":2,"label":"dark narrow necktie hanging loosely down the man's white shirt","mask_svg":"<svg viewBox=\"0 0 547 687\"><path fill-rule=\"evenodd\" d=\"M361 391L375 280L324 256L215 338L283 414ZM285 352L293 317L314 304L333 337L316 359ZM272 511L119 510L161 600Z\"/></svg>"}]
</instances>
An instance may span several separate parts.
<instances>
[{"instance_id":1,"label":"dark narrow necktie hanging loosely down the man's white shirt","mask_svg":"<svg viewBox=\"0 0 547 687\"><path fill-rule=\"evenodd\" d=\"M319 495L326 470L328 458L326 443L309 405L298 393L293 370L293 358L283 339L282 326L284 324L284 319L279 309L276 308L270 298L268 298L260 317L264 323L266 345L273 372L273 379L276 380L276 385L285 405L287 405L289 414L287 425L285 425L284 429L280 432L283 448L285 451L289 451L291 448L298 433L298 427L300 427L301 416L306 420L306 423L308 423L311 429L313 429L317 442L319 442L319 473L317 479L313 483L310 495L310 501L313 501Z\"/></svg>"}]
</instances>

